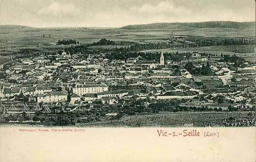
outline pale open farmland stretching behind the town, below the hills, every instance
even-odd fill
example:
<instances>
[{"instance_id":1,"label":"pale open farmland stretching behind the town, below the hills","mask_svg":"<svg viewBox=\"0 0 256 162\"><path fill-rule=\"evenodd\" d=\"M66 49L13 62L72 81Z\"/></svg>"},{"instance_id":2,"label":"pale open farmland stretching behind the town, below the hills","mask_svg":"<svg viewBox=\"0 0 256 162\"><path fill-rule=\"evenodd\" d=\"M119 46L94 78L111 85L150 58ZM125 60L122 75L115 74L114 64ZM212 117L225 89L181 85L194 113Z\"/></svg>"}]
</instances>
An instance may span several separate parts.
<instances>
[{"instance_id":1,"label":"pale open farmland stretching behind the town, below the hills","mask_svg":"<svg viewBox=\"0 0 256 162\"><path fill-rule=\"evenodd\" d=\"M44 35L44 36L43 36ZM101 46L93 48L128 47L133 43L164 43L170 37L186 36L186 40L225 39L225 38L254 38L255 31L233 28L192 28L170 26L166 29L128 30L123 28L32 28L28 26L0 26L0 64L25 57L19 55L20 50L30 49L43 53L54 53L66 46L54 45L58 39L75 39L80 43L91 44L101 38L113 40L116 46ZM123 43L125 43L123 45ZM167 51L167 50L165 50ZM245 53L247 56L254 52L253 45L247 46L216 46L168 51L208 51L212 54ZM28 53L29 55L30 53ZM252 56L248 60L254 60Z\"/></svg>"}]
</instances>

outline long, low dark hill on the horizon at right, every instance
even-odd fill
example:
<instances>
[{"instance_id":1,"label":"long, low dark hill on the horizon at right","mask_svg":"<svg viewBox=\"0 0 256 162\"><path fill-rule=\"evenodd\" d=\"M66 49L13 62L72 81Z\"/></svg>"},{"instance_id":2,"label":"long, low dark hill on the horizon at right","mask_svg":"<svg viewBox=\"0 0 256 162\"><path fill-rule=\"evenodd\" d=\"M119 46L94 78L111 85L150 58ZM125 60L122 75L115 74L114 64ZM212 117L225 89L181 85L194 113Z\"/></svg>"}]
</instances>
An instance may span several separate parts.
<instances>
[{"instance_id":1,"label":"long, low dark hill on the horizon at right","mask_svg":"<svg viewBox=\"0 0 256 162\"><path fill-rule=\"evenodd\" d=\"M122 29L172 29L172 28L235 28L235 29L255 29L255 22L234 22L234 21L207 21L197 23L149 23L141 25L123 26Z\"/></svg>"}]
</instances>

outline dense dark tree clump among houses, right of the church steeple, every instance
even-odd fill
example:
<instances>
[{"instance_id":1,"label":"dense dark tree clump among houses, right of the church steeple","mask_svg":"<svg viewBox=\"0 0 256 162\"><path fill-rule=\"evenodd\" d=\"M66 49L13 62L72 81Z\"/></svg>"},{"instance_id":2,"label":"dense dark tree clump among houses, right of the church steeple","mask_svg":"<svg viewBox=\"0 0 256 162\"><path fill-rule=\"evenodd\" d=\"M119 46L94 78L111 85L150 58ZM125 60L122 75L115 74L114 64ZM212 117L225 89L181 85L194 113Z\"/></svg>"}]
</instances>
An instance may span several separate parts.
<instances>
[{"instance_id":1,"label":"dense dark tree clump among houses, right of the church steeple","mask_svg":"<svg viewBox=\"0 0 256 162\"><path fill-rule=\"evenodd\" d=\"M211 71L210 64L207 62L206 66L202 64L202 67L196 67L192 62L188 62L185 65L185 69L193 75L206 75L211 76L213 72Z\"/></svg>"}]
</instances>

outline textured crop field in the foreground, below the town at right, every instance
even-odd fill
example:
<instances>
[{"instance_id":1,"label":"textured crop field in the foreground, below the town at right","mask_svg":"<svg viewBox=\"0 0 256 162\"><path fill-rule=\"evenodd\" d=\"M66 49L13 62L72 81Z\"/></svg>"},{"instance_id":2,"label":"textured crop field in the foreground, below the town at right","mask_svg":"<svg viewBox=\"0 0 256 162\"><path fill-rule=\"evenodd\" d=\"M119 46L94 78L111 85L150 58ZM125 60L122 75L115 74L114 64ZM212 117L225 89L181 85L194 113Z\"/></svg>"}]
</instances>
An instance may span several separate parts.
<instances>
[{"instance_id":1,"label":"textured crop field in the foreground, below the town at right","mask_svg":"<svg viewBox=\"0 0 256 162\"><path fill-rule=\"evenodd\" d=\"M123 116L119 120L106 122L92 122L80 124L84 127L141 127L141 126L165 126L183 127L185 124L193 124L195 127L205 126L234 126L241 121L240 126L247 126L247 122L254 122L255 116L249 117L249 112L163 112L159 114ZM255 115L255 114L254 114ZM239 122L238 122L239 121ZM251 124L251 123L250 123Z\"/></svg>"}]
</instances>

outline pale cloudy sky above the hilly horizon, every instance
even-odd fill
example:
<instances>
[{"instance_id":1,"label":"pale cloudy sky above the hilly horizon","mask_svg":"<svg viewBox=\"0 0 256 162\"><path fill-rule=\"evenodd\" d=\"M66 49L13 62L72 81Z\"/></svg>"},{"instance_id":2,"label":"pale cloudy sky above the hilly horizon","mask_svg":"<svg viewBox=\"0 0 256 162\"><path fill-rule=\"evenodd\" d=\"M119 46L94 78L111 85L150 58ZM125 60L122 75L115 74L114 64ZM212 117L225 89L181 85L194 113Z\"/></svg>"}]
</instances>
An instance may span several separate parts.
<instances>
[{"instance_id":1,"label":"pale cloudy sky above the hilly horizon","mask_svg":"<svg viewBox=\"0 0 256 162\"><path fill-rule=\"evenodd\" d=\"M255 0L0 0L0 25L122 27L255 21Z\"/></svg>"}]
</instances>

